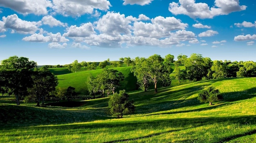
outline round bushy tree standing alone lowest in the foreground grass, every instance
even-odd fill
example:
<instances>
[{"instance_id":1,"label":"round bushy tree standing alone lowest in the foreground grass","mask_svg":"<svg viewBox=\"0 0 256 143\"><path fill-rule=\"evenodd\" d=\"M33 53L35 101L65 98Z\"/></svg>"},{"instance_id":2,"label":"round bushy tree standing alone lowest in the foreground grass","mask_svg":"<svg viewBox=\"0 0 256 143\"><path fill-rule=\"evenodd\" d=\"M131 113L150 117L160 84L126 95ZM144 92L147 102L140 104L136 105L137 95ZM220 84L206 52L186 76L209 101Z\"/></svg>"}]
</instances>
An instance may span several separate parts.
<instances>
[{"instance_id":1,"label":"round bushy tree standing alone lowest in the foreground grass","mask_svg":"<svg viewBox=\"0 0 256 143\"><path fill-rule=\"evenodd\" d=\"M124 114L130 114L135 111L135 106L133 101L129 100L129 95L123 91L119 91L114 95L110 96L108 107L110 109L110 113L117 118L122 118Z\"/></svg>"}]
</instances>

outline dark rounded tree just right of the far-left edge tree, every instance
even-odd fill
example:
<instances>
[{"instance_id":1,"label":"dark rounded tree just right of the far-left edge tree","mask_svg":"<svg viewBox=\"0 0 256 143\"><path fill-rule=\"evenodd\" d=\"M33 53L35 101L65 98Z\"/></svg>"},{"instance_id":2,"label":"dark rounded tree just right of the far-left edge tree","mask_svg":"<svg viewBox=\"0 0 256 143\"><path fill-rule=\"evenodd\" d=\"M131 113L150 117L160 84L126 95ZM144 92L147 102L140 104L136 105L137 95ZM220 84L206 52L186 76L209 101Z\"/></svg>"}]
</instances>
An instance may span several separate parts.
<instances>
[{"instance_id":1,"label":"dark rounded tree just right of the far-left edge tree","mask_svg":"<svg viewBox=\"0 0 256 143\"><path fill-rule=\"evenodd\" d=\"M43 105L45 96L55 91L55 87L58 85L58 79L51 72L45 70L35 71L31 77L33 87L29 88L29 93L36 96L36 106L40 106L40 99Z\"/></svg>"}]
</instances>

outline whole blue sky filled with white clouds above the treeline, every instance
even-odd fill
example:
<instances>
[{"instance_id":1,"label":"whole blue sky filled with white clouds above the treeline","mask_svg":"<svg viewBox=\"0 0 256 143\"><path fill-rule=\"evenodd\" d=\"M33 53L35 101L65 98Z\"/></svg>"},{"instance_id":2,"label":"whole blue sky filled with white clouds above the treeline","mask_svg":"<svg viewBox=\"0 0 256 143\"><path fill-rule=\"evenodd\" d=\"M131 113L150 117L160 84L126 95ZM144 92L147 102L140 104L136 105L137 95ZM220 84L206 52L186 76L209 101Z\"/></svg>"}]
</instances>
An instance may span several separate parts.
<instances>
[{"instance_id":1,"label":"whole blue sky filled with white clouds above the treeline","mask_svg":"<svg viewBox=\"0 0 256 143\"><path fill-rule=\"evenodd\" d=\"M254 0L1 0L0 61L202 54L256 61Z\"/></svg>"}]
</instances>

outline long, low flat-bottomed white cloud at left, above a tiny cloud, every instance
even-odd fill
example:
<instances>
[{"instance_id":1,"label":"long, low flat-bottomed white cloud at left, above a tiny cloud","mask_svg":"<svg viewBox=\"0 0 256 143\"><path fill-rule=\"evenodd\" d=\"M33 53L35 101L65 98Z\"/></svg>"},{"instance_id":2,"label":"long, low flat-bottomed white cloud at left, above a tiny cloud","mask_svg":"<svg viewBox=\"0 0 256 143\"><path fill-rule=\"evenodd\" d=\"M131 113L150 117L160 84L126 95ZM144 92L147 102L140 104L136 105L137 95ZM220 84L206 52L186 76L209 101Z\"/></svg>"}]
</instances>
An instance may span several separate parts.
<instances>
[{"instance_id":1,"label":"long, low flat-bottomed white cloud at left, above a tiny cloud","mask_svg":"<svg viewBox=\"0 0 256 143\"><path fill-rule=\"evenodd\" d=\"M31 36L24 37L23 41L30 41L30 42L67 42L69 39L61 36L61 33L52 34L52 32L47 33L47 36L44 36L43 33L34 33Z\"/></svg>"}]
</instances>

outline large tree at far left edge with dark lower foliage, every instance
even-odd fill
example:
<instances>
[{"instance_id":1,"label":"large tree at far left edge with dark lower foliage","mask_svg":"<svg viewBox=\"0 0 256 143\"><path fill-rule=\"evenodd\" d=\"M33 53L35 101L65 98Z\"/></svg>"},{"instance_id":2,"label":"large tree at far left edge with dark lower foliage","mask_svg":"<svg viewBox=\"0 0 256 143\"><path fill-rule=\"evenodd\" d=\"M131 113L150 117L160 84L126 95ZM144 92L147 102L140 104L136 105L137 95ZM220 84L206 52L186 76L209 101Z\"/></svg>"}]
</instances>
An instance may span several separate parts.
<instances>
[{"instance_id":1,"label":"large tree at far left edge with dark lower foliage","mask_svg":"<svg viewBox=\"0 0 256 143\"><path fill-rule=\"evenodd\" d=\"M15 95L16 103L19 105L20 97L27 95L27 89L33 84L31 75L36 62L29 61L25 57L11 56L1 61L0 65L2 65L2 83Z\"/></svg>"}]
</instances>

